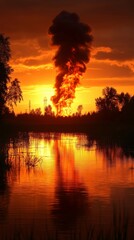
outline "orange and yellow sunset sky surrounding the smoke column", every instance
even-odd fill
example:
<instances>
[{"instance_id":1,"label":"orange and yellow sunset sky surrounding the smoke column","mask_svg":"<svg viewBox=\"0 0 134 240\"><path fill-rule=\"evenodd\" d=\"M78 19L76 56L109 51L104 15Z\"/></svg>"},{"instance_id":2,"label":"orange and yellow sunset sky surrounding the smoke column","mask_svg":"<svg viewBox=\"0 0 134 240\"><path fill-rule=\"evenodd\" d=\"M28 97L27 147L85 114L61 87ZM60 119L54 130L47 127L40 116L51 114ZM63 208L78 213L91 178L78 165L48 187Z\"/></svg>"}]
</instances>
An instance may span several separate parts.
<instances>
[{"instance_id":1,"label":"orange and yellow sunset sky surrounding the smoke column","mask_svg":"<svg viewBox=\"0 0 134 240\"><path fill-rule=\"evenodd\" d=\"M10 37L14 69L23 91L16 112L51 104L56 69L48 29L61 11L75 12L94 37L91 59L76 90L72 111L95 109L94 99L112 86L134 94L133 0L0 0L0 33Z\"/></svg>"}]
</instances>

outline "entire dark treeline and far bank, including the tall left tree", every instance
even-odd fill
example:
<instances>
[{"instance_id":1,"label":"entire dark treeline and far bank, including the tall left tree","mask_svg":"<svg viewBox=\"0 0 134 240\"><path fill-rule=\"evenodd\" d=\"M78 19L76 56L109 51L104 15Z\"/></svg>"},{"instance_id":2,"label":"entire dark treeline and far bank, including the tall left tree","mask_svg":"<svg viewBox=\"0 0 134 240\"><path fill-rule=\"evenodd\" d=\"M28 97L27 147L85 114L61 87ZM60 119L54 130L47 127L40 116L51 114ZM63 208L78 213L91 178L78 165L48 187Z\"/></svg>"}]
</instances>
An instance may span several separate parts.
<instances>
[{"instance_id":1,"label":"entire dark treeline and far bank, including the tall left tree","mask_svg":"<svg viewBox=\"0 0 134 240\"><path fill-rule=\"evenodd\" d=\"M0 34L0 131L80 131L98 135L133 135L134 133L134 96L117 93L115 88L106 87L102 97L95 100L96 111L82 114L80 104L71 116L57 116L51 105L32 109L30 113L15 115L14 105L20 102L22 91L18 79L12 79L13 69L10 41Z\"/></svg>"}]
</instances>

